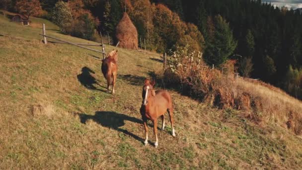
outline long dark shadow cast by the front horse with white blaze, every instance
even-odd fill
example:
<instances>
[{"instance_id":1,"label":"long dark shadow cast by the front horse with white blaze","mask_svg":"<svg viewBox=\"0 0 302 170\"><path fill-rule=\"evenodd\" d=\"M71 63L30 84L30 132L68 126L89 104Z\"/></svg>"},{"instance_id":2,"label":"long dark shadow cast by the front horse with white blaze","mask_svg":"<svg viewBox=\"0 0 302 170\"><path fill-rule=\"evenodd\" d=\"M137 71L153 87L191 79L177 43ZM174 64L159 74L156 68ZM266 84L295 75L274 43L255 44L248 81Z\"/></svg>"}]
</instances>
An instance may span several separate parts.
<instances>
[{"instance_id":1,"label":"long dark shadow cast by the front horse with white blaze","mask_svg":"<svg viewBox=\"0 0 302 170\"><path fill-rule=\"evenodd\" d=\"M83 124L85 124L87 120L92 119L94 122L100 124L101 126L114 129L116 131L124 133L125 135L129 135L134 139L141 141L142 143L144 142L144 140L139 136L129 132L128 130L120 128L125 125L125 121L131 121L133 123L143 124L143 121L138 118L130 117L125 114L112 112L112 111L96 111L95 115L88 115L85 113L77 113L77 114L80 118L80 122Z\"/></svg>"}]
</instances>

